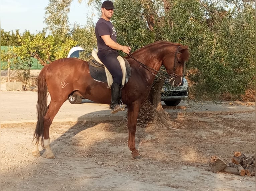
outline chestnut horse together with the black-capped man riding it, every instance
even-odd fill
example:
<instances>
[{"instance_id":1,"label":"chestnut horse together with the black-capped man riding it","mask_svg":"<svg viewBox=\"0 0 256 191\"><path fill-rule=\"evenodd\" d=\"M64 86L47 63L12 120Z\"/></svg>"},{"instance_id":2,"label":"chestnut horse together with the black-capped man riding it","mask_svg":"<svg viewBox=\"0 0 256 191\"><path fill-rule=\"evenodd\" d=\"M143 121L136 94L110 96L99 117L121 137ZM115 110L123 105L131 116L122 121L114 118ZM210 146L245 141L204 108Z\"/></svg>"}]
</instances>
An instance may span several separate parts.
<instances>
[{"instance_id":1,"label":"chestnut horse together with the black-capped man riding it","mask_svg":"<svg viewBox=\"0 0 256 191\"><path fill-rule=\"evenodd\" d=\"M55 158L50 147L49 128L61 105L70 95L76 94L97 103L111 102L112 113L125 109L122 101L127 105L128 147L132 152L132 157L139 159L140 153L135 146L138 112L140 105L146 101L150 93L155 77L160 73L161 80L169 81L173 86L181 84L185 62L189 58L188 47L158 41L129 54L130 47L116 43L116 31L110 23L113 9L111 1L103 2L102 17L95 28L99 49L98 57L113 76L114 83L111 85L111 91L109 90L110 84L93 78L90 64L87 61L78 58L63 58L44 66L37 82L37 123L34 131L35 145L32 151L34 156L41 155L38 149L41 143L45 149L46 158ZM123 74L117 61L117 50L129 54L129 57L125 57L130 65L129 82L122 88L122 100L119 94L121 95ZM166 69L167 76L159 71L162 65ZM63 86L63 84L66 85ZM48 93L49 104L47 104Z\"/></svg>"}]
</instances>

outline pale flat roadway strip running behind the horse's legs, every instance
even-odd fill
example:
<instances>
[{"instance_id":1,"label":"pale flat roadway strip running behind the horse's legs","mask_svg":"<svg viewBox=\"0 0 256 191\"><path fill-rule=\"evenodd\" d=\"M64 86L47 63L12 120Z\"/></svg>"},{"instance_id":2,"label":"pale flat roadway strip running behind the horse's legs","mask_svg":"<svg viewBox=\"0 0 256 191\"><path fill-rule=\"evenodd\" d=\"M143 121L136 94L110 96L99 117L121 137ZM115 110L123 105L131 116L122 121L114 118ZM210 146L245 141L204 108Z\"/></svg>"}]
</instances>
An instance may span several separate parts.
<instances>
[{"instance_id":1,"label":"pale flat roadway strip running behind the horse's legs","mask_svg":"<svg viewBox=\"0 0 256 191\"><path fill-rule=\"evenodd\" d=\"M36 122L37 92L31 91L7 91L0 92L1 123ZM48 103L49 103L48 97ZM165 105L162 102L163 106ZM172 117L178 117L183 113L193 112L240 112L255 111L255 102L228 102L219 101L187 101L182 100L177 107L165 107ZM77 121L101 121L101 120L122 120L124 112L110 114L108 104L94 103L88 99L82 104L71 104L68 100L60 107L53 122L77 122Z\"/></svg>"}]
</instances>

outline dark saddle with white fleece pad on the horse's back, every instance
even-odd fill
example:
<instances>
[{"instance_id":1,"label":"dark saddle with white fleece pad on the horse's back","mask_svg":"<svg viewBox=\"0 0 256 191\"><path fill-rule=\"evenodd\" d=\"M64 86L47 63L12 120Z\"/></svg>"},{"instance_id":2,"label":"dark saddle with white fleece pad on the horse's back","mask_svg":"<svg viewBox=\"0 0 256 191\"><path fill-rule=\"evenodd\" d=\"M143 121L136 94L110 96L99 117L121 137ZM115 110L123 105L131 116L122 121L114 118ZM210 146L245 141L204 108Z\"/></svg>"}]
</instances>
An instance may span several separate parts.
<instances>
[{"instance_id":1,"label":"dark saddle with white fleece pad on the horse's back","mask_svg":"<svg viewBox=\"0 0 256 191\"><path fill-rule=\"evenodd\" d=\"M97 82L107 83L109 89L111 89L111 85L113 84L112 75L110 74L108 69L103 65L103 63L100 61L95 50L92 51L91 56L93 57L93 59L89 60L89 70L90 70L91 77ZM122 72L123 72L121 87L124 87L124 85L129 81L129 78L131 76L131 67L129 62L125 58L118 56L117 60L119 61Z\"/></svg>"}]
</instances>

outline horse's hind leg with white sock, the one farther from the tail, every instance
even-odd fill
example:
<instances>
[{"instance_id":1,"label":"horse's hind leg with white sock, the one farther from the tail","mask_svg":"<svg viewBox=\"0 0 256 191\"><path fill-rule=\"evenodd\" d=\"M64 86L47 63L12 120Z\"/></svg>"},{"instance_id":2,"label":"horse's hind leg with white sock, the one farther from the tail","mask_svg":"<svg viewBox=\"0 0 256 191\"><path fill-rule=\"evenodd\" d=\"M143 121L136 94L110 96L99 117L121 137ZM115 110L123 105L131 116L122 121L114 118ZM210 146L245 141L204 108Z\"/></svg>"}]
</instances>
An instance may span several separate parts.
<instances>
[{"instance_id":1,"label":"horse's hind leg with white sock, the one farther from the tail","mask_svg":"<svg viewBox=\"0 0 256 191\"><path fill-rule=\"evenodd\" d=\"M51 148L50 148L50 141L49 141L49 128L53 121L53 118L57 114L59 108L64 102L57 102L51 100L48 111L46 112L43 118L43 129L44 129L44 139L43 139L43 146L45 148L45 156L46 158L55 158Z\"/></svg>"}]
</instances>

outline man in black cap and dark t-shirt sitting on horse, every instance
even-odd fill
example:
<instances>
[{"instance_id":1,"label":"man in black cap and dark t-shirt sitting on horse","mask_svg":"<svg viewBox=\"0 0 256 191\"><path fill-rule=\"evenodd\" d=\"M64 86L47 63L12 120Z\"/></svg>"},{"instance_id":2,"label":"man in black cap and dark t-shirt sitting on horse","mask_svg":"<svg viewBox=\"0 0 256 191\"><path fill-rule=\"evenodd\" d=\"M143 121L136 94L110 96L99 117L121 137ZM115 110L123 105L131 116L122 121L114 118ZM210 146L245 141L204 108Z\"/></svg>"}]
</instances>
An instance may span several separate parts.
<instances>
[{"instance_id":1,"label":"man in black cap and dark t-shirt sitting on horse","mask_svg":"<svg viewBox=\"0 0 256 191\"><path fill-rule=\"evenodd\" d=\"M131 51L130 47L122 46L116 42L116 30L110 22L114 8L111 1L104 1L101 8L102 16L95 26L98 57L113 77L113 84L111 85L111 113L125 110L122 100L120 100L123 74L117 60L119 55L117 50L121 50L126 54L129 54Z\"/></svg>"}]
</instances>

